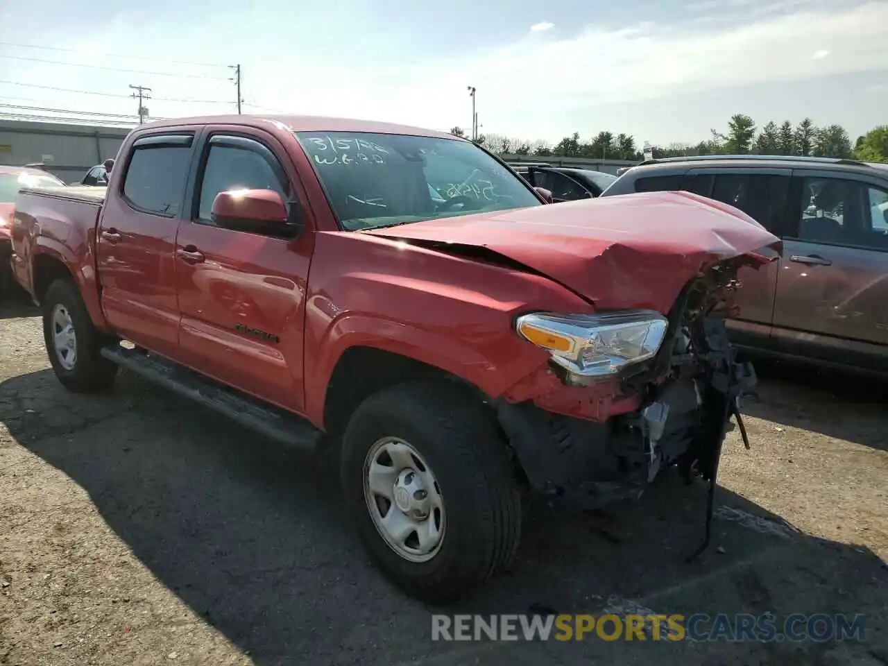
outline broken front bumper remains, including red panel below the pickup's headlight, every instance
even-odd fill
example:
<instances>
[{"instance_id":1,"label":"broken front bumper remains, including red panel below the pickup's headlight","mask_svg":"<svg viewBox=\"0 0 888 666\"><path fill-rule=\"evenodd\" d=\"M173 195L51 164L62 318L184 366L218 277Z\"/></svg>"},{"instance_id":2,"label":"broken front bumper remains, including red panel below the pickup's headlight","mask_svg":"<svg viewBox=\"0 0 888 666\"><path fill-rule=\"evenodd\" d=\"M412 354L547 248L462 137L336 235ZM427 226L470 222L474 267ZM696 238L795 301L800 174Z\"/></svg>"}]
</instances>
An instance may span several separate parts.
<instances>
[{"instance_id":1,"label":"broken front bumper remains, including red panel below the pickup's headlight","mask_svg":"<svg viewBox=\"0 0 888 666\"><path fill-rule=\"evenodd\" d=\"M724 320L708 318L702 325L705 354L683 354L678 345L665 376L624 384L620 395L606 398L603 387L559 383L536 400L496 403L530 485L559 502L593 509L640 496L673 465L688 479L714 480L731 416L739 414L738 400L756 376L749 363L737 361ZM590 417L604 405L604 418Z\"/></svg>"}]
</instances>

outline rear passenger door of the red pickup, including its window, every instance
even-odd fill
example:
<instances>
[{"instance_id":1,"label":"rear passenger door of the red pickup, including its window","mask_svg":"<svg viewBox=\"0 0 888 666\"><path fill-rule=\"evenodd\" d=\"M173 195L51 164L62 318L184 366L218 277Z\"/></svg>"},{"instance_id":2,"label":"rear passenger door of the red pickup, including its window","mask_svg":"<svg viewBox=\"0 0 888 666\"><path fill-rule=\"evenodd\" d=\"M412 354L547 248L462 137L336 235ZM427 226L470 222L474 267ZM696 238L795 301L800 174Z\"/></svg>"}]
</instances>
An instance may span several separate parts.
<instances>
[{"instance_id":1,"label":"rear passenger door of the red pickup, including its window","mask_svg":"<svg viewBox=\"0 0 888 666\"><path fill-rule=\"evenodd\" d=\"M102 308L123 337L177 358L176 230L182 217L194 131L133 143L123 180L108 193L96 257Z\"/></svg>"}]
</instances>

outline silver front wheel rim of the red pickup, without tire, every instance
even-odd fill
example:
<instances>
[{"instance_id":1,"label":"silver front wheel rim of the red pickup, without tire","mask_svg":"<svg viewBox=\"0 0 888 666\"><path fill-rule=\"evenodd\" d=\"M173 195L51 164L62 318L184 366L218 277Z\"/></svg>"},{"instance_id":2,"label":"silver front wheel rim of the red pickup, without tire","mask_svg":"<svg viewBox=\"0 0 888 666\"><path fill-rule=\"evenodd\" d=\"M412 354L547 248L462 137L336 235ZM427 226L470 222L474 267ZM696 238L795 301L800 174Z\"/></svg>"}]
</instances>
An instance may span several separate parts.
<instances>
[{"instance_id":1,"label":"silver front wheel rim of the red pickup, without tire","mask_svg":"<svg viewBox=\"0 0 888 666\"><path fill-rule=\"evenodd\" d=\"M392 551L427 562L444 541L444 500L432 469L404 440L377 440L364 460L370 518Z\"/></svg>"}]
</instances>

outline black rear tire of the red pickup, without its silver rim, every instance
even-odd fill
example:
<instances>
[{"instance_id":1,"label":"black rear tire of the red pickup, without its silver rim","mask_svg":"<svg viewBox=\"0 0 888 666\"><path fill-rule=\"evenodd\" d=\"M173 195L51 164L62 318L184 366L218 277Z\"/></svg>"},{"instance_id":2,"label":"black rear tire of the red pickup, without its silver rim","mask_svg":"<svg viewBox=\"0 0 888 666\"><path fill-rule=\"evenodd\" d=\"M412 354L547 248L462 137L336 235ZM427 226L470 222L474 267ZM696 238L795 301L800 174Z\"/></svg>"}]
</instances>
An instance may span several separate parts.
<instances>
[{"instance_id":1,"label":"black rear tire of the red pickup, without its silver rim","mask_svg":"<svg viewBox=\"0 0 888 666\"><path fill-rule=\"evenodd\" d=\"M75 331L76 356L70 369L62 365L55 348L53 314L59 305L70 314ZM99 391L114 384L117 366L99 353L108 338L93 325L74 281L59 279L52 282L43 298L43 310L46 353L59 382L69 391L78 393Z\"/></svg>"}]
</instances>

